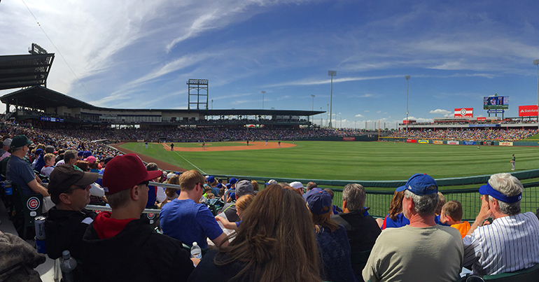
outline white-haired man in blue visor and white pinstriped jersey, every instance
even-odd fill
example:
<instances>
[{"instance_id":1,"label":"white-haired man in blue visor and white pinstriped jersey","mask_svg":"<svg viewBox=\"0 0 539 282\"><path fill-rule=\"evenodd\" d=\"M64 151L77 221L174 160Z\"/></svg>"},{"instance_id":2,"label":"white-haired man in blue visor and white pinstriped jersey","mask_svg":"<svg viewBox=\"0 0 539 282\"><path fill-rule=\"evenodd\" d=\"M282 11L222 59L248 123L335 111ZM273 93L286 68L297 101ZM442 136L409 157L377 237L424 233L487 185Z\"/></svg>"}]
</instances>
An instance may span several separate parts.
<instances>
[{"instance_id":1,"label":"white-haired man in blue visor and white pinstriped jersey","mask_svg":"<svg viewBox=\"0 0 539 282\"><path fill-rule=\"evenodd\" d=\"M479 188L479 214L464 241L464 265L474 274L515 272L539 263L539 220L520 213L524 187L511 174L493 174ZM482 225L487 218L489 225Z\"/></svg>"}]
</instances>

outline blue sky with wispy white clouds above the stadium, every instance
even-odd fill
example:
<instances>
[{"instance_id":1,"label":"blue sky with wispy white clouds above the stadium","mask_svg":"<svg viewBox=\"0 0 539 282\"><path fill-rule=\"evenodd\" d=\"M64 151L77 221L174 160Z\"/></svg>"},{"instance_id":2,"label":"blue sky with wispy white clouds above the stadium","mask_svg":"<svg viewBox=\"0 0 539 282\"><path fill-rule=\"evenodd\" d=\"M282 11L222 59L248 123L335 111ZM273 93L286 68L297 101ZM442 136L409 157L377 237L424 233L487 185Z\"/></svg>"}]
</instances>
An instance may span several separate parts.
<instances>
[{"instance_id":1,"label":"blue sky with wispy white clouds above the stadium","mask_svg":"<svg viewBox=\"0 0 539 282\"><path fill-rule=\"evenodd\" d=\"M314 94L314 109L327 111L335 70L333 125L392 128L406 117L405 75L418 121L454 108L486 116L482 97L495 93L510 97L506 117L537 104L537 10L538 1L10 0L0 3L0 54L38 43L56 53L48 87L111 108L187 108L186 81L206 78L214 108L262 108L264 90L265 108L311 110Z\"/></svg>"}]
</instances>

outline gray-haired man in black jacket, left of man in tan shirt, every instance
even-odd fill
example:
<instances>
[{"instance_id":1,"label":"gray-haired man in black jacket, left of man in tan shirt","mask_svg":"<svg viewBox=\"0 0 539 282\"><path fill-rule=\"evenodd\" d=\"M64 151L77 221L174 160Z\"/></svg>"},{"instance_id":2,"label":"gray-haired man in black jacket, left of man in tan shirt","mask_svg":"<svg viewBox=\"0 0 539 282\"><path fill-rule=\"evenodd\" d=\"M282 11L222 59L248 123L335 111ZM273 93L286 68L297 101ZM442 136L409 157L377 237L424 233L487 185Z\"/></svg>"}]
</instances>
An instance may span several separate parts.
<instances>
[{"instance_id":1,"label":"gray-haired man in black jacket, left of man in tan shirt","mask_svg":"<svg viewBox=\"0 0 539 282\"><path fill-rule=\"evenodd\" d=\"M368 214L365 216L365 199L363 185L350 183L342 190L342 213L331 216L346 230L352 251L352 269L358 277L361 277L370 250L381 232L376 220Z\"/></svg>"}]
</instances>

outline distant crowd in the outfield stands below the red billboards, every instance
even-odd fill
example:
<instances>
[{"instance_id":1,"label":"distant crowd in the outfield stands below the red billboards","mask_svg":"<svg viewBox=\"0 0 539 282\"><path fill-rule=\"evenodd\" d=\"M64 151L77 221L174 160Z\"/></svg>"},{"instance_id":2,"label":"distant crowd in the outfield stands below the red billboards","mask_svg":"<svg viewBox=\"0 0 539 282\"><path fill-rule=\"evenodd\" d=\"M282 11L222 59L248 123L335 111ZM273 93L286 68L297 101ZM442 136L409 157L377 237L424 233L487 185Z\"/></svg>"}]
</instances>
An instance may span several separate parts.
<instances>
[{"instance_id":1,"label":"distant crowd in the outfield stands below the red billboards","mask_svg":"<svg viewBox=\"0 0 539 282\"><path fill-rule=\"evenodd\" d=\"M409 132L392 132L388 137L435 139L435 140L468 140L468 141L501 141L521 140L538 134L538 129L449 129L449 130L411 130Z\"/></svg>"}]
</instances>

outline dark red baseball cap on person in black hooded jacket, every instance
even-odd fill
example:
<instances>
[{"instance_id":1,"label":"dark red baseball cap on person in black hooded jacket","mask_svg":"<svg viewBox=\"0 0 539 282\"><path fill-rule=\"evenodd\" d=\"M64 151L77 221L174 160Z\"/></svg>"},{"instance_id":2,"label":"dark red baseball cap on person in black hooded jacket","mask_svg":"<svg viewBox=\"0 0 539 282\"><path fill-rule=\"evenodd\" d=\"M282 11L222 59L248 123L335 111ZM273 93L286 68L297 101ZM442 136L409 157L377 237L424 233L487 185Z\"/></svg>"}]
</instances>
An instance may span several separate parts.
<instances>
[{"instance_id":1,"label":"dark red baseball cap on person in black hooded jacket","mask_svg":"<svg viewBox=\"0 0 539 282\"><path fill-rule=\"evenodd\" d=\"M103 173L105 194L111 195L159 176L162 176L161 171L147 171L136 154L117 156L106 164Z\"/></svg>"}]
</instances>

